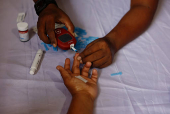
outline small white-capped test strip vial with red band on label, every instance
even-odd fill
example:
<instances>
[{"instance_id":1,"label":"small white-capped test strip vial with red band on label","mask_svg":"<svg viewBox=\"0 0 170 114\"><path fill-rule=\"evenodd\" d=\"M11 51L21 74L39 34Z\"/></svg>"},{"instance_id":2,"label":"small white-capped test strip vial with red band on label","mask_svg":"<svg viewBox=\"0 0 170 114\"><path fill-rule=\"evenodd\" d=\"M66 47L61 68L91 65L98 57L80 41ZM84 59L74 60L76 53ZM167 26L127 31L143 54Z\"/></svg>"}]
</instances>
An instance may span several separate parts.
<instances>
[{"instance_id":1,"label":"small white-capped test strip vial with red band on label","mask_svg":"<svg viewBox=\"0 0 170 114\"><path fill-rule=\"evenodd\" d=\"M27 42L29 40L29 33L28 33L28 23L20 22L17 24L19 37L21 42Z\"/></svg>"}]
</instances>

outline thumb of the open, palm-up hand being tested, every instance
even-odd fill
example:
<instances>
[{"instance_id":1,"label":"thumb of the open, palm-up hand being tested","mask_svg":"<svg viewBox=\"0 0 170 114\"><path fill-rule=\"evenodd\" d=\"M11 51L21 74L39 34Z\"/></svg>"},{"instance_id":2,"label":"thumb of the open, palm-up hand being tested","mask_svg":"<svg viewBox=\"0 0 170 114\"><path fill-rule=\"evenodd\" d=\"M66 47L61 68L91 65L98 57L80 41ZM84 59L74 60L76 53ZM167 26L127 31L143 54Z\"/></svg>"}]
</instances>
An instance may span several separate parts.
<instances>
[{"instance_id":1,"label":"thumb of the open, palm-up hand being tested","mask_svg":"<svg viewBox=\"0 0 170 114\"><path fill-rule=\"evenodd\" d=\"M56 69L59 70L64 81L71 78L70 74L62 66L57 66Z\"/></svg>"}]
</instances>

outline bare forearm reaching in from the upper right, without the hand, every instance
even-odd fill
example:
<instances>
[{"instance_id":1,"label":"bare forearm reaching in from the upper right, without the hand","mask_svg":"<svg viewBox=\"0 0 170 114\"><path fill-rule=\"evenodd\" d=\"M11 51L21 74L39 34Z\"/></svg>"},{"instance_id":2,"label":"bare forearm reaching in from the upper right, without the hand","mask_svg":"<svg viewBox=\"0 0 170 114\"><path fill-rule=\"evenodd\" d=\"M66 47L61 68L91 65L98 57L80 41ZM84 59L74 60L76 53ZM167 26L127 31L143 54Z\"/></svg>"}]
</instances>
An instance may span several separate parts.
<instances>
[{"instance_id":1,"label":"bare forearm reaching in from the upper right, without the hand","mask_svg":"<svg viewBox=\"0 0 170 114\"><path fill-rule=\"evenodd\" d=\"M121 19L118 25L106 37L118 51L130 41L142 34L150 25L155 9L146 6L134 6Z\"/></svg>"}]
</instances>

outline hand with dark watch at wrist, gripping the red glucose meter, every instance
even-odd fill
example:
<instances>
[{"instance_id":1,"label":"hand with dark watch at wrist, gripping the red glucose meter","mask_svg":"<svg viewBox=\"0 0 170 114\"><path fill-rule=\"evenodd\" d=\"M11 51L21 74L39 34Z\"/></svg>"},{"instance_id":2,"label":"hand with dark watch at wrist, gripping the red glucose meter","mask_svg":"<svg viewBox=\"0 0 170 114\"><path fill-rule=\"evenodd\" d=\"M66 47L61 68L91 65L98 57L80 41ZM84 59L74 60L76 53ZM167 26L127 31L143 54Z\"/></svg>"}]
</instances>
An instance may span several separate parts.
<instances>
[{"instance_id":1,"label":"hand with dark watch at wrist, gripping the red glucose meter","mask_svg":"<svg viewBox=\"0 0 170 114\"><path fill-rule=\"evenodd\" d=\"M60 8L54 4L49 4L39 15L37 28L40 39L47 44L57 46L55 38L55 23L63 23L68 31L74 33L74 25L70 18ZM49 38L47 37L49 36ZM73 34L74 35L74 34Z\"/></svg>"}]
</instances>

